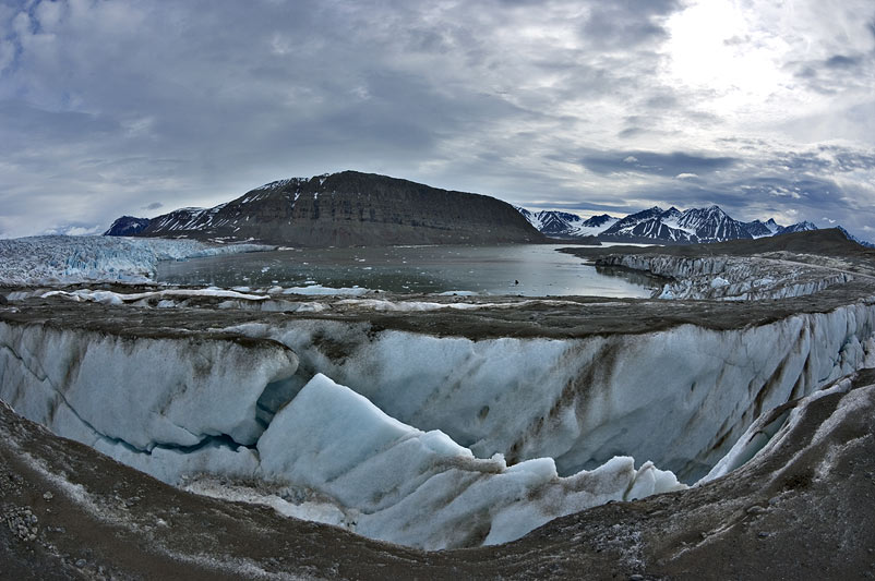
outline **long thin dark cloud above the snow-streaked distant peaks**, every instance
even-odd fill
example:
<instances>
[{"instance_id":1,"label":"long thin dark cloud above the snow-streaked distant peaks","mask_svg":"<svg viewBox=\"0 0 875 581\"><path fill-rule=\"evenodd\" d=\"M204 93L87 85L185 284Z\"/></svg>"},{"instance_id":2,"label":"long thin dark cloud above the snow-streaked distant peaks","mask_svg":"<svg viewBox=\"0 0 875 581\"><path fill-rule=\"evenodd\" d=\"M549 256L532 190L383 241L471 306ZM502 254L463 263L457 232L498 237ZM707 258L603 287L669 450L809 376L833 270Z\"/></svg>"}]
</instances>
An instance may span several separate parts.
<instances>
[{"instance_id":1,"label":"long thin dark cloud above the snow-streaked distant peaks","mask_svg":"<svg viewBox=\"0 0 875 581\"><path fill-rule=\"evenodd\" d=\"M589 153L580 157L580 164L589 171L611 173L652 173L657 175L679 175L682 173L710 173L731 167L738 162L732 157L711 157L674 152L615 150Z\"/></svg>"}]
</instances>

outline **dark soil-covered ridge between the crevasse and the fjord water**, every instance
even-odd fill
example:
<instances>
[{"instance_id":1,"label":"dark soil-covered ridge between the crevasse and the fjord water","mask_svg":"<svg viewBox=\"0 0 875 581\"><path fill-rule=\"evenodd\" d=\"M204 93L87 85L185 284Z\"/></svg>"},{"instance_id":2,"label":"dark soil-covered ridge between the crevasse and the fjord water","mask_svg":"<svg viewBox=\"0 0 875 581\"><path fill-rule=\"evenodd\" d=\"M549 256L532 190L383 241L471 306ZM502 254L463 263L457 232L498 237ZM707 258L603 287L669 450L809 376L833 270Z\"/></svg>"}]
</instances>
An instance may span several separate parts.
<instances>
[{"instance_id":1,"label":"dark soil-covered ridge between the crevasse and the fjord water","mask_svg":"<svg viewBox=\"0 0 875 581\"><path fill-rule=\"evenodd\" d=\"M91 288L98 288L92 286ZM135 292L127 289L122 292ZM242 323L281 325L301 319L345 320L369 324L383 329L428 334L439 337L466 337L472 340L515 338L572 339L594 335L637 335L696 325L714 330L760 326L796 314L828 313L858 302L875 301L875 283L852 280L815 294L782 300L679 301L649 299L519 296L431 296L380 293L368 298L394 301L427 301L498 304L476 310L425 312L379 312L337 298L281 295L289 304L320 302L328 306L322 313L271 313L215 306L226 299L199 296L182 307L153 308L133 305L107 306L76 303L61 296L33 298L0 306L0 320L10 324L40 324L57 328L84 328L131 337L179 337L215 334L214 329Z\"/></svg>"}]
</instances>

